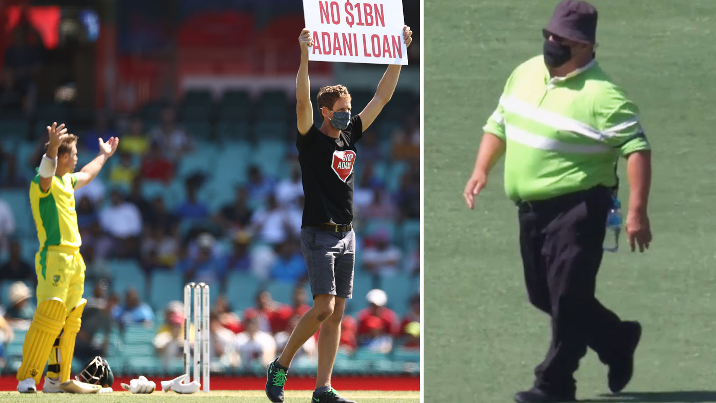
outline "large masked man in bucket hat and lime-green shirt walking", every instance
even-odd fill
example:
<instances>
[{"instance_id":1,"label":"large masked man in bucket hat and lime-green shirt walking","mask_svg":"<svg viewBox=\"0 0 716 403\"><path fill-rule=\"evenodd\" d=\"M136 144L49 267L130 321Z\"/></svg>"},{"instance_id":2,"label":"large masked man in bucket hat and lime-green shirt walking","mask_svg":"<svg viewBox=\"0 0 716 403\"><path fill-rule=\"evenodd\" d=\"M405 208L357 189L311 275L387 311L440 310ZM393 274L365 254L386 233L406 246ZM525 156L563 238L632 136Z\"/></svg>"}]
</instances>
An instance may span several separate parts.
<instances>
[{"instance_id":1,"label":"large masked man in bucket hat and lime-green shirt walking","mask_svg":"<svg viewBox=\"0 0 716 403\"><path fill-rule=\"evenodd\" d=\"M574 371L589 346L609 367L609 389L632 377L642 328L594 296L619 156L627 158L632 251L649 247L649 142L637 106L594 60L597 12L586 1L556 6L543 54L517 67L484 127L465 202L505 154L505 191L518 206L530 302L551 316L552 340L534 387L516 402L575 400Z\"/></svg>"}]
</instances>

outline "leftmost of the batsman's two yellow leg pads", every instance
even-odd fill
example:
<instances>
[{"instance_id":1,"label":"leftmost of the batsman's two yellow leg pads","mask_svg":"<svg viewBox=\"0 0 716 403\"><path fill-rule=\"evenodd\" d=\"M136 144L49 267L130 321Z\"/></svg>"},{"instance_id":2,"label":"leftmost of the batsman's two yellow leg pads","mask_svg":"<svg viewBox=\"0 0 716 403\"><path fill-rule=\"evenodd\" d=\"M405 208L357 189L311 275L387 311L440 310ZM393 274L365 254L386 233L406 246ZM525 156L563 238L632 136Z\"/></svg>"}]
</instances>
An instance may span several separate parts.
<instances>
[{"instance_id":1,"label":"leftmost of the batsman's two yellow leg pads","mask_svg":"<svg viewBox=\"0 0 716 403\"><path fill-rule=\"evenodd\" d=\"M52 343L64 326L67 308L59 298L42 301L35 310L35 315L22 343L22 364L17 370L17 380L34 378L39 384L44 370L47 354Z\"/></svg>"}]
</instances>

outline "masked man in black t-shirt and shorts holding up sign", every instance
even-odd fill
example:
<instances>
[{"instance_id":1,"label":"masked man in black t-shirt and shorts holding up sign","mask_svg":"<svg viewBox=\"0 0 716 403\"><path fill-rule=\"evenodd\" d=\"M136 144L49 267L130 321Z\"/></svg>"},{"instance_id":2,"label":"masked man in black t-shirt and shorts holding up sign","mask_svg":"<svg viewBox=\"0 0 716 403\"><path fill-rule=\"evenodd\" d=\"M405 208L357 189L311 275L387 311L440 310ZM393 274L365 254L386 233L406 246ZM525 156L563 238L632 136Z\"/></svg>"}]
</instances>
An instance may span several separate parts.
<instances>
[{"instance_id":1,"label":"masked man in black t-shirt and shorts holding up sign","mask_svg":"<svg viewBox=\"0 0 716 403\"><path fill-rule=\"evenodd\" d=\"M402 42L412 42L412 31L402 30ZM301 250L308 267L314 306L301 316L284 351L267 369L266 396L284 402L284 384L296 351L321 328L318 339L318 373L314 403L347 402L331 387L331 373L338 351L346 299L352 297L355 262L353 219L353 167L355 143L363 136L395 91L400 64L390 65L373 99L351 117L351 96L346 87L331 85L318 93L321 128L313 119L309 81L309 50L316 46L311 31L299 37L301 65L296 77L296 148L305 194L301 224ZM405 52L404 52L405 54Z\"/></svg>"}]
</instances>

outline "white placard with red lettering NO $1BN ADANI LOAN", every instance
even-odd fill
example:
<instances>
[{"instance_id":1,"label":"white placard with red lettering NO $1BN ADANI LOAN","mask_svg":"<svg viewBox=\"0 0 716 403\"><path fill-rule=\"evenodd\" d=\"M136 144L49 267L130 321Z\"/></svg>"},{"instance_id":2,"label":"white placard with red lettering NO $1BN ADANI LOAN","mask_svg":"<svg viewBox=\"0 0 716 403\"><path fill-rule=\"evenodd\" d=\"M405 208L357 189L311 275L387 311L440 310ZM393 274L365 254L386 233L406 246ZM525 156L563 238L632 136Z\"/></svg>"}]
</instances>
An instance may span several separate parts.
<instances>
[{"instance_id":1,"label":"white placard with red lettering NO $1BN ADANI LOAN","mask_svg":"<svg viewBox=\"0 0 716 403\"><path fill-rule=\"evenodd\" d=\"M309 60L407 65L401 0L304 0Z\"/></svg>"}]
</instances>

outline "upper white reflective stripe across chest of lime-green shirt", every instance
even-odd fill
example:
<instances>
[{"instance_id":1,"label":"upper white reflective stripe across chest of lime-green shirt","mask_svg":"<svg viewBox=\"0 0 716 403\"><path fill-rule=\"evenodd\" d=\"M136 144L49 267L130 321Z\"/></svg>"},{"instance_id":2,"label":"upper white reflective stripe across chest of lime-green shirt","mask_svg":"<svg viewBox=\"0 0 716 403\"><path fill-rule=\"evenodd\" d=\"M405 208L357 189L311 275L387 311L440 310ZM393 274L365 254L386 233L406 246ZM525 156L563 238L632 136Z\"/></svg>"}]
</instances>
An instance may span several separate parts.
<instances>
[{"instance_id":1,"label":"upper white reflective stripe across chest of lime-green shirt","mask_svg":"<svg viewBox=\"0 0 716 403\"><path fill-rule=\"evenodd\" d=\"M548 125L560 131L571 131L589 137L592 140L604 141L606 138L614 136L613 132L600 132L589 125L581 123L579 120L567 118L566 116L554 113L551 110L537 108L535 105L526 103L515 97L508 97L503 100L503 108L511 113L520 115L523 118L534 120L543 125Z\"/></svg>"}]
</instances>

